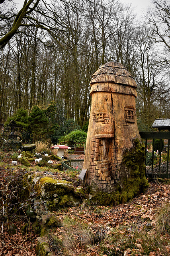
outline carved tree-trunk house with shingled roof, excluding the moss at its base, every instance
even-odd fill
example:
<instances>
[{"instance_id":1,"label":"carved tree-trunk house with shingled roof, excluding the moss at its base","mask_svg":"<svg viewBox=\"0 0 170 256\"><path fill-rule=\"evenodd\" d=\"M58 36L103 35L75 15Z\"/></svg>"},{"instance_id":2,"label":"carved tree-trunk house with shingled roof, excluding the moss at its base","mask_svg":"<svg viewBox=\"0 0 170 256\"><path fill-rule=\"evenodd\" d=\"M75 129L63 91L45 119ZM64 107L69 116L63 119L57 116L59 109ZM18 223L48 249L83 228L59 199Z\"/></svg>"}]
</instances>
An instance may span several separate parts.
<instances>
[{"instance_id":1,"label":"carved tree-trunk house with shingled roof, excluding the moss at its base","mask_svg":"<svg viewBox=\"0 0 170 256\"><path fill-rule=\"evenodd\" d=\"M92 105L86 141L86 182L99 190L120 179L118 166L133 139L141 141L135 108L136 82L118 62L108 62L92 75Z\"/></svg>"}]
</instances>

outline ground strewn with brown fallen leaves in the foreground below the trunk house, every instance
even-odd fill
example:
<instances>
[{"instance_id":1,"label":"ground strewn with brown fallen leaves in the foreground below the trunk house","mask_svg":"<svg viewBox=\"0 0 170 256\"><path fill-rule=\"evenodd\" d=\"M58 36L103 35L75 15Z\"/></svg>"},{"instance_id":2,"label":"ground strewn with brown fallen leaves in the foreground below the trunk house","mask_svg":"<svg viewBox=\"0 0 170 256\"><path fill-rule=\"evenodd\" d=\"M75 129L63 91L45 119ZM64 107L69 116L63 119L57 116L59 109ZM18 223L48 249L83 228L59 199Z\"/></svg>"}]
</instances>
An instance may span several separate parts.
<instances>
[{"instance_id":1,"label":"ground strewn with brown fallen leaves in the foreground below the trunk house","mask_svg":"<svg viewBox=\"0 0 170 256\"><path fill-rule=\"evenodd\" d=\"M166 220L159 224L158 215L162 208L170 209L169 202L170 185L156 182L150 183L145 194L127 204L97 207L84 200L78 207L53 212L62 224L51 227L44 240L49 242L54 255L168 256L170 218L168 224ZM21 234L24 222L20 223L14 223L15 235L9 236L4 230L3 238L1 232L0 255L35 256L36 234L31 229L30 241L29 232ZM160 230L159 225L164 228Z\"/></svg>"}]
</instances>

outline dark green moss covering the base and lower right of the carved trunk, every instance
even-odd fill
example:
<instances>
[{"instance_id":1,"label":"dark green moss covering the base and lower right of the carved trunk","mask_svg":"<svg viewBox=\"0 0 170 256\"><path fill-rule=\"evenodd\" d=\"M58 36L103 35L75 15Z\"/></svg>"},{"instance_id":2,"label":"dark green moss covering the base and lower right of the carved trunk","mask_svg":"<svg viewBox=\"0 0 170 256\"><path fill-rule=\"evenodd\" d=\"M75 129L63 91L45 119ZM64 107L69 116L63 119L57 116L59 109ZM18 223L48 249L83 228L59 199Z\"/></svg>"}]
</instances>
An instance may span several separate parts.
<instances>
[{"instance_id":1,"label":"dark green moss covering the base and lower right of the carved trunk","mask_svg":"<svg viewBox=\"0 0 170 256\"><path fill-rule=\"evenodd\" d=\"M88 189L92 204L115 205L128 202L145 192L149 186L145 177L145 151L139 139L133 140L133 147L125 150L121 164L117 167L119 181L103 191L93 182Z\"/></svg>"}]
</instances>

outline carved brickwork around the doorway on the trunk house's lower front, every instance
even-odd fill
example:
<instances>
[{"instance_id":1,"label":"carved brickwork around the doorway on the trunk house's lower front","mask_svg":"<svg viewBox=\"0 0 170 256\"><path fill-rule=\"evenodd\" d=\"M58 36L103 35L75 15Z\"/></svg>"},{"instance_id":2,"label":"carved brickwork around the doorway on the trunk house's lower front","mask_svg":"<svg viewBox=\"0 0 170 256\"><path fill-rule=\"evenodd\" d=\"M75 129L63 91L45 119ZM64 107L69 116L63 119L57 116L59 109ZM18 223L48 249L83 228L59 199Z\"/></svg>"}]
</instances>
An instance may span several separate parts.
<instances>
[{"instance_id":1,"label":"carved brickwork around the doorway on the trunk house's lower front","mask_svg":"<svg viewBox=\"0 0 170 256\"><path fill-rule=\"evenodd\" d=\"M94 179L99 188L106 188L119 180L116 172L121 163L119 140L113 138L91 138L91 157L89 178Z\"/></svg>"}]
</instances>

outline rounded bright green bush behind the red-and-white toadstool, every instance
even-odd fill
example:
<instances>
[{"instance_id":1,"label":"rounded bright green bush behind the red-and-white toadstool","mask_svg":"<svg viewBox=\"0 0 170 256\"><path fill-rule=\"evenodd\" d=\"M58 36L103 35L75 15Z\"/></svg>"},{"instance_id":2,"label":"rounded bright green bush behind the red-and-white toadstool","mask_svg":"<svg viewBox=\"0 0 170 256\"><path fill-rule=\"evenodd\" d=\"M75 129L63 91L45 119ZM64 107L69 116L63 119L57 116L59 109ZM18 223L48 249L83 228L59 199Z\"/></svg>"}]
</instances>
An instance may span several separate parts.
<instances>
[{"instance_id":1,"label":"rounded bright green bush behind the red-and-white toadstool","mask_svg":"<svg viewBox=\"0 0 170 256\"><path fill-rule=\"evenodd\" d=\"M82 130L74 130L69 134L59 138L59 143L68 141L68 145L72 146L75 143L85 142L86 143L87 133Z\"/></svg>"}]
</instances>

